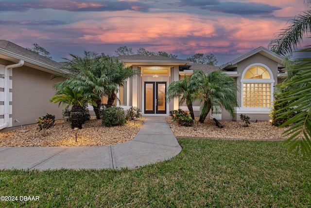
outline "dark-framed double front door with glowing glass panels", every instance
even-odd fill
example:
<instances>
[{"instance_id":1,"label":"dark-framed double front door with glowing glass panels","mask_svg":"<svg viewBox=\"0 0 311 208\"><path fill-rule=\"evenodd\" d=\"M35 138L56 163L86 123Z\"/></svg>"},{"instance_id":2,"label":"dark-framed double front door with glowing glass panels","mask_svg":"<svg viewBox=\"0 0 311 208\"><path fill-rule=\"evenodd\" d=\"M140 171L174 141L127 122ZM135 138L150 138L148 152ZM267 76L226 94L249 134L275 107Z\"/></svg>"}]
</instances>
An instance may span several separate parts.
<instances>
[{"instance_id":1,"label":"dark-framed double front door with glowing glass panels","mask_svg":"<svg viewBox=\"0 0 311 208\"><path fill-rule=\"evenodd\" d=\"M166 82L145 82L144 113L166 114Z\"/></svg>"}]
</instances>

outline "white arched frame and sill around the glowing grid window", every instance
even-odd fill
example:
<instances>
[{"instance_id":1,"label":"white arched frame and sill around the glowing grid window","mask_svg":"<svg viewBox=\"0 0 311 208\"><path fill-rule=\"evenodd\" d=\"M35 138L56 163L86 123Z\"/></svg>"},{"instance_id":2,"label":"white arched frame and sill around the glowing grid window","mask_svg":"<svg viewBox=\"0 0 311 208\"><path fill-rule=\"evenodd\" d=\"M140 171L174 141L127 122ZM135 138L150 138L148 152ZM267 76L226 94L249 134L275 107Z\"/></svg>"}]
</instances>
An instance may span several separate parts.
<instances>
[{"instance_id":1,"label":"white arched frame and sill around the glowing grid window","mask_svg":"<svg viewBox=\"0 0 311 208\"><path fill-rule=\"evenodd\" d=\"M270 79L244 79L245 73L254 66L261 66L263 68L265 68L269 75L270 75ZM273 77L273 73L271 71L271 69L262 63L253 63L249 66L247 66L243 73L242 73L242 78L241 78L241 107L240 108L236 108L236 113L269 113L271 110L271 107L263 107L263 108L259 108L259 107L243 107L244 103L243 103L243 85L244 83L267 83L267 84L271 84L271 96L270 96L270 101L271 101L271 106L272 106L272 102L273 102L273 95L274 95L274 77Z\"/></svg>"}]
</instances>

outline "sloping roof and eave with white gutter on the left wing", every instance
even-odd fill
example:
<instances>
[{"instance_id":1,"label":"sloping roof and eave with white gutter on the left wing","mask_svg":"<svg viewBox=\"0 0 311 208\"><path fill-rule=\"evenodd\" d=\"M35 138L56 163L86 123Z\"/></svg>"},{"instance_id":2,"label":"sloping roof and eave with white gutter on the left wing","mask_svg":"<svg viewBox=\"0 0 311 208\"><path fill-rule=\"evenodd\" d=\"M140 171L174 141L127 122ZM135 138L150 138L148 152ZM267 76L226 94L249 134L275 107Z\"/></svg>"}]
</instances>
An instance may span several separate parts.
<instances>
[{"instance_id":1,"label":"sloping roof and eave with white gutter on the left wing","mask_svg":"<svg viewBox=\"0 0 311 208\"><path fill-rule=\"evenodd\" d=\"M43 57L35 52L23 48L15 43L0 39L0 58L17 63L20 59L25 61L26 66L42 71L61 72L62 64L52 59Z\"/></svg>"}]
</instances>

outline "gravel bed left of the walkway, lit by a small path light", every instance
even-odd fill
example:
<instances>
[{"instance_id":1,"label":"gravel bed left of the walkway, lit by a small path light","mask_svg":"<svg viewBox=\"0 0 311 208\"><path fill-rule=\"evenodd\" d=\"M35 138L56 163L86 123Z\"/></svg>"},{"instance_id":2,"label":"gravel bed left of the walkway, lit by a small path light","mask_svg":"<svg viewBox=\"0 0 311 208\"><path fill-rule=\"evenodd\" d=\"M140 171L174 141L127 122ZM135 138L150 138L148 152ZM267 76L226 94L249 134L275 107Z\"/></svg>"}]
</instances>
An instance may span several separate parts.
<instances>
[{"instance_id":1,"label":"gravel bed left of the walkway, lit by a small path light","mask_svg":"<svg viewBox=\"0 0 311 208\"><path fill-rule=\"evenodd\" d=\"M116 127L104 127L102 120L91 116L89 121L82 125L75 133L70 128L70 122L66 119L56 120L54 126L46 131L37 130L37 125L23 129L29 132L18 132L19 129L10 132L0 132L0 147L78 147L78 146L105 146L120 144L132 140L137 134L145 118L137 118L128 121L125 125Z\"/></svg>"}]
</instances>

